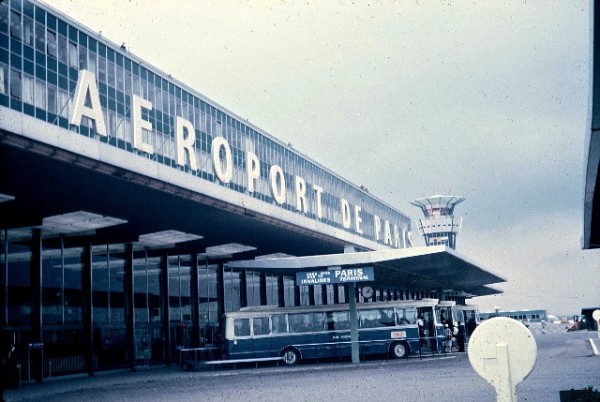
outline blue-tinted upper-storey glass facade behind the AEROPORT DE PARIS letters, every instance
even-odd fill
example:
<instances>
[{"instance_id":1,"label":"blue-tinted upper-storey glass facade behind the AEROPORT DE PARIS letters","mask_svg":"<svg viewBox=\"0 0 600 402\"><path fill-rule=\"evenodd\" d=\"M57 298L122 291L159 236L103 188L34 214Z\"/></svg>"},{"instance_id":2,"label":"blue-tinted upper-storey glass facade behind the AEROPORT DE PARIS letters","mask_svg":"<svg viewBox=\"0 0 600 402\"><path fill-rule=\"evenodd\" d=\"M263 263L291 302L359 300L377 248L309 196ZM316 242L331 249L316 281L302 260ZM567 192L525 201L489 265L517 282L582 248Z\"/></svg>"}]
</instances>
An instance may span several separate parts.
<instances>
[{"instance_id":1,"label":"blue-tinted upper-storey glass facade behind the AEROPORT DE PARIS letters","mask_svg":"<svg viewBox=\"0 0 600 402\"><path fill-rule=\"evenodd\" d=\"M0 60L0 106L336 229L406 246L404 214L37 2L0 4ZM89 115L71 120L82 71L97 87L105 133Z\"/></svg>"}]
</instances>

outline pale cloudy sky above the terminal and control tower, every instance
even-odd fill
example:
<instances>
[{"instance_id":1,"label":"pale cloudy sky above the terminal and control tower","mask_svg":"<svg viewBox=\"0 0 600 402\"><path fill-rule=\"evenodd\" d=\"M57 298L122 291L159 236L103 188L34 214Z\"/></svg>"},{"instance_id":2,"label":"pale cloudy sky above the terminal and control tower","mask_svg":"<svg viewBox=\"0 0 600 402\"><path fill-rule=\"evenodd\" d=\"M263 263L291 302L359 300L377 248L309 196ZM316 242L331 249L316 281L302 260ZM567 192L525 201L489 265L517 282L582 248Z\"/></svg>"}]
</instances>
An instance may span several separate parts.
<instances>
[{"instance_id":1,"label":"pale cloudy sky above the terminal and control tower","mask_svg":"<svg viewBox=\"0 0 600 402\"><path fill-rule=\"evenodd\" d=\"M46 3L413 219L464 197L456 250L508 280L481 311L600 306L588 1Z\"/></svg>"}]
</instances>

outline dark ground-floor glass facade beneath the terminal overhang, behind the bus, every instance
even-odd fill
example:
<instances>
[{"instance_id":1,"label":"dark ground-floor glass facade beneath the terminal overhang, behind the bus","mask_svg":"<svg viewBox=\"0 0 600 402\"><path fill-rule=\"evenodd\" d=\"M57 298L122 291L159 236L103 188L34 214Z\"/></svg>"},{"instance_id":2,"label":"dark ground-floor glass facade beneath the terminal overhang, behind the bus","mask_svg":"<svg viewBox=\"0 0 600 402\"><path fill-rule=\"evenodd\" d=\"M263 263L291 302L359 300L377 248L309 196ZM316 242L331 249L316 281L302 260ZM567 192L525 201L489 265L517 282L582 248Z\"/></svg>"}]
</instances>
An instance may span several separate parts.
<instances>
[{"instance_id":1,"label":"dark ground-floor glass facade beneath the terminal overhang, behind the bus","mask_svg":"<svg viewBox=\"0 0 600 402\"><path fill-rule=\"evenodd\" d=\"M176 361L180 348L216 345L219 317L244 306L347 302L341 285L297 287L292 277L233 271L202 256L156 256L124 244L81 247L73 240L41 238L32 229L0 232L1 327L15 333L24 370L35 371L27 345L40 339L44 377ZM375 294L358 301L435 297Z\"/></svg>"}]
</instances>

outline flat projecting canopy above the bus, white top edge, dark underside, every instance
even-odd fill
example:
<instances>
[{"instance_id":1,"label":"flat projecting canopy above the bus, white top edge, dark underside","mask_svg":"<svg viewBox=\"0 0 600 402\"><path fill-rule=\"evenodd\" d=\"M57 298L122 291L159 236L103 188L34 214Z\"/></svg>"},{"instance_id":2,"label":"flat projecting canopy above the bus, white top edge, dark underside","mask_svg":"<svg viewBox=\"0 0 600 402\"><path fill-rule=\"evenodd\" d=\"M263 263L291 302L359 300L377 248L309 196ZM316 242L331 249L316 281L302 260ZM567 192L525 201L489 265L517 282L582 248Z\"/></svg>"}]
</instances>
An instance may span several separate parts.
<instances>
[{"instance_id":1,"label":"flat projecting canopy above the bus, white top edge, dark underside","mask_svg":"<svg viewBox=\"0 0 600 402\"><path fill-rule=\"evenodd\" d=\"M413 247L305 257L273 257L232 261L230 268L252 269L274 275L327 269L372 266L375 286L402 289L460 290L466 296L502 293L488 286L506 282L445 246Z\"/></svg>"}]
</instances>

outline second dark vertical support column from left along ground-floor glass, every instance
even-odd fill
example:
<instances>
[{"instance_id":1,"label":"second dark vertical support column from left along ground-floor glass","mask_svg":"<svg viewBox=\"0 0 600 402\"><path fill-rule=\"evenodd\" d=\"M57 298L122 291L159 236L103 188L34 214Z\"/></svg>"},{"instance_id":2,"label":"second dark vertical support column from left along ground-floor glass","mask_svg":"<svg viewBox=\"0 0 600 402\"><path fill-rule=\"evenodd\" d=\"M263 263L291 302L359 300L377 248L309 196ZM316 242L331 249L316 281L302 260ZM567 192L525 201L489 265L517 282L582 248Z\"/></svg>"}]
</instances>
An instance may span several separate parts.
<instances>
[{"instance_id":1,"label":"second dark vertical support column from left along ground-floor glass","mask_svg":"<svg viewBox=\"0 0 600 402\"><path fill-rule=\"evenodd\" d=\"M83 271L81 272L81 313L85 342L85 368L89 376L94 375L94 298L92 287L92 241L89 240L83 251Z\"/></svg>"}]
</instances>

